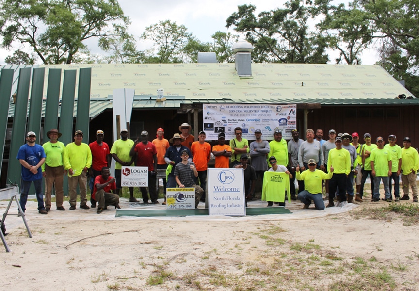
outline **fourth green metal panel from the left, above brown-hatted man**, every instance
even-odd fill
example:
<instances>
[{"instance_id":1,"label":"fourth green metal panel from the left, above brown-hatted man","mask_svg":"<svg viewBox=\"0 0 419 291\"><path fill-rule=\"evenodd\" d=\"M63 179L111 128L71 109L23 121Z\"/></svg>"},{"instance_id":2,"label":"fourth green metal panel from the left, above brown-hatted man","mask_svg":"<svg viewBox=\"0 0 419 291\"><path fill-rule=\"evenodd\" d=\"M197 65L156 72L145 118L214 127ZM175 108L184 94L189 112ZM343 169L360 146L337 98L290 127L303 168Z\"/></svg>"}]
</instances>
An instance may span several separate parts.
<instances>
[{"instance_id":1,"label":"fourth green metal panel from the left, above brown-hatted man","mask_svg":"<svg viewBox=\"0 0 419 291\"><path fill-rule=\"evenodd\" d=\"M58 107L60 103L61 69L49 69L47 100L44 117L43 143L48 141L47 132L58 129ZM60 139L61 140L61 139Z\"/></svg>"}]
</instances>

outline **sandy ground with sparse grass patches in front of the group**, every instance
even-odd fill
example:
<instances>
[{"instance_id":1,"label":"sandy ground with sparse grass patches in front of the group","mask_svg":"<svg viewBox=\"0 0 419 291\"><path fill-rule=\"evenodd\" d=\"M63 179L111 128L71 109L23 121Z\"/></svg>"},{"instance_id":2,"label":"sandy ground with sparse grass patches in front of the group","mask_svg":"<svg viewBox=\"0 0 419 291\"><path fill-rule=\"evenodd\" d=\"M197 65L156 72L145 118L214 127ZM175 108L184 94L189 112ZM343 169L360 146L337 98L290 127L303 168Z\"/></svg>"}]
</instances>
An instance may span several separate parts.
<instances>
[{"instance_id":1,"label":"sandy ground with sparse grass patches in front of the group","mask_svg":"<svg viewBox=\"0 0 419 291\"><path fill-rule=\"evenodd\" d=\"M11 252L0 251L0 290L339 290L335 281L382 271L393 285L340 290L419 290L419 225L351 215L371 205L317 211L292 202L287 215L115 218L113 209L69 211L68 202L66 211L40 215L28 201L33 238L21 218L6 218ZM356 273L359 260L368 268Z\"/></svg>"}]
</instances>

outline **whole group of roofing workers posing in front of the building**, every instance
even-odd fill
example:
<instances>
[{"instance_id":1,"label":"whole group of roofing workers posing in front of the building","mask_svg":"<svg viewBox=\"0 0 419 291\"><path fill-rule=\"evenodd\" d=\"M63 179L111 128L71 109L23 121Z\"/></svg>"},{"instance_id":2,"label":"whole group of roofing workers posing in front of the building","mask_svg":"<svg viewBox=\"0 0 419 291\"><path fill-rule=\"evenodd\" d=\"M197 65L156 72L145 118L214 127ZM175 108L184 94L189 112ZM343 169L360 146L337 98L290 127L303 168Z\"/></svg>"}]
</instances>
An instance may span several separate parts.
<instances>
[{"instance_id":1,"label":"whole group of roofing workers posing in front of the building","mask_svg":"<svg viewBox=\"0 0 419 291\"><path fill-rule=\"evenodd\" d=\"M156 138L149 141L147 131L141 137L131 140L128 130L120 131L121 138L113 143L111 149L103 141L104 132L97 130L96 141L89 145L82 143L83 132L74 133L74 142L64 146L58 139L61 133L57 129L47 132L49 141L43 146L36 144L36 134L32 131L26 135L27 143L20 147L17 159L22 165L22 183L20 206L25 211L29 188L32 181L35 185L38 211L47 214L51 210L51 193L55 188L56 209L63 207L63 181L68 175L70 208L76 209L77 187L80 189L81 209L96 208L102 213L108 206L119 208L121 195L121 172L124 166L143 166L148 168L148 192L140 187L143 203L158 204L157 170L165 170L167 180L163 178L164 202L166 204L166 188L195 188L195 208L199 201L205 202L208 162L211 154L215 157L217 168L243 168L246 206L254 196L255 182L258 177L263 179L265 171L285 172L290 178L291 199L297 198L309 208L314 201L315 208L324 209L322 199L322 181L325 180L326 196L329 204L334 206L335 194L340 202L351 203L354 197L354 180L356 184L355 200L363 201L364 184L368 176L371 179L372 201L379 201L379 186L383 181L384 199L392 201L391 186L394 180L394 198L396 201L409 200L409 187L412 189L413 201L418 202L416 172L419 168L418 151L411 147L409 137L403 139L403 148L396 144L396 136L388 136L385 145L383 137L371 143L371 135L365 133L365 144L359 143L359 135L338 134L329 130L329 139L323 140L322 129L316 133L306 130L306 141L299 138L298 130L292 130L292 139L287 143L282 138L282 131L274 131L274 139L270 142L262 140L260 129L254 131L255 141L249 144L242 138L242 129L234 129L235 138L226 144L224 132L218 134L218 144L212 146L206 142L205 131L198 133L195 141L190 134L191 126L183 123L168 141L164 138L164 130L157 129ZM171 146L172 145L172 146ZM250 157L251 163L248 163ZM114 178L110 173L112 158L115 160ZM269 165L271 167L269 167ZM88 175L89 174L89 175ZM402 174L402 175L401 175ZM400 197L399 177L402 177L403 197ZM87 205L86 188L88 176L91 177L90 203ZM42 177L45 178L45 206L42 194ZM298 182L298 195L294 181ZM112 193L112 191L114 193ZM139 202L134 197L134 188L129 187L130 202ZM273 206L268 201L268 206ZM284 202L284 201L282 201Z\"/></svg>"}]
</instances>

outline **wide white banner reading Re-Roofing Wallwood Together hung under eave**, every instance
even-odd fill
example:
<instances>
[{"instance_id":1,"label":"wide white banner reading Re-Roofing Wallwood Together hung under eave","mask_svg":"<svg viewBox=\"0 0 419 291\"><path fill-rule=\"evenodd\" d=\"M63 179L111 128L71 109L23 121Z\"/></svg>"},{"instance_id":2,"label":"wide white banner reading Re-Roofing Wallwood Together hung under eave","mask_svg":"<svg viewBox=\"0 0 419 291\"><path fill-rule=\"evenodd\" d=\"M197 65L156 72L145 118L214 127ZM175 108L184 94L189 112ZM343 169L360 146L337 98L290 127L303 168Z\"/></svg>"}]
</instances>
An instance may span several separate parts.
<instances>
[{"instance_id":1,"label":"wide white banner reading Re-Roofing Wallwood Together hung under eave","mask_svg":"<svg viewBox=\"0 0 419 291\"><path fill-rule=\"evenodd\" d=\"M203 124L208 140L217 140L224 132L226 140L235 138L234 129L242 128L242 137L255 139L255 130L260 129L264 139L273 136L276 129L282 137L291 139L291 130L297 128L297 105L273 104L203 104Z\"/></svg>"}]
</instances>

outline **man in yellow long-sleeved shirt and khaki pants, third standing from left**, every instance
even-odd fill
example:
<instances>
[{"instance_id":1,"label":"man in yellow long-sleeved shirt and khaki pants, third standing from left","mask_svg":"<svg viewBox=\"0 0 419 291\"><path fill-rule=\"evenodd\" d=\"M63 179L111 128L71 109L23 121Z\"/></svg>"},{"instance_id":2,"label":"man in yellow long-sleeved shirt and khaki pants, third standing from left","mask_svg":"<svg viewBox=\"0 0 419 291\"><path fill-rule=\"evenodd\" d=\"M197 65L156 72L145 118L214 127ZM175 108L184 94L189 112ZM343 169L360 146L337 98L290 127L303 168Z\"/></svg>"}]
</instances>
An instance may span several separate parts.
<instances>
[{"instance_id":1,"label":"man in yellow long-sleeved shirt and khaki pants, third standing from left","mask_svg":"<svg viewBox=\"0 0 419 291\"><path fill-rule=\"evenodd\" d=\"M68 171L68 186L70 189L70 210L76 209L77 186L80 190L80 208L89 209L87 198L87 170L92 165L92 152L87 144L82 143L83 132L74 133L74 142L64 149L64 168Z\"/></svg>"}]
</instances>

